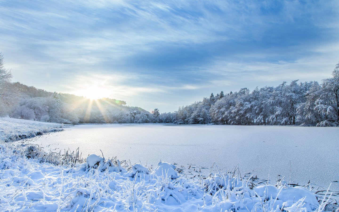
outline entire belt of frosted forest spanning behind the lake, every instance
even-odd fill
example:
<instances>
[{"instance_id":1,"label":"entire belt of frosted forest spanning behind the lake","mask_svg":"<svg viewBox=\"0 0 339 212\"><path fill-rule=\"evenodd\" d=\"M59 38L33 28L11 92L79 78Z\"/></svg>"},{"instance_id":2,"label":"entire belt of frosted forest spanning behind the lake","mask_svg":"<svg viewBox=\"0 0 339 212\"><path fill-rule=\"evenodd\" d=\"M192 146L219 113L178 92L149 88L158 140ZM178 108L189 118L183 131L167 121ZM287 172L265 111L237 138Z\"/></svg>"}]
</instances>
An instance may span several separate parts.
<instances>
[{"instance_id":1,"label":"entire belt of frosted forest spanning behind the lake","mask_svg":"<svg viewBox=\"0 0 339 212\"><path fill-rule=\"evenodd\" d=\"M152 113L126 102L47 92L11 82L10 70L0 55L0 115L58 123L174 123L235 125L338 126L339 63L332 77L238 92L223 91L202 101L179 107L173 113Z\"/></svg>"}]
</instances>

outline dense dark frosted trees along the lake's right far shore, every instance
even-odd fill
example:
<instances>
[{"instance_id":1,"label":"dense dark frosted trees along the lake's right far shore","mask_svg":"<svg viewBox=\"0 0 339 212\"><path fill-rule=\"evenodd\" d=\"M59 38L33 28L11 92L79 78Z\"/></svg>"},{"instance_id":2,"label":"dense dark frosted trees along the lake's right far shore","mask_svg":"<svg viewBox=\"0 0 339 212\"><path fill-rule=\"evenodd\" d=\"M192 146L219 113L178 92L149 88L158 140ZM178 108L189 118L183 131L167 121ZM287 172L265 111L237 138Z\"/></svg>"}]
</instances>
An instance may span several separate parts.
<instances>
[{"instance_id":1,"label":"dense dark frosted trees along the lake's right far shore","mask_svg":"<svg viewBox=\"0 0 339 212\"><path fill-rule=\"evenodd\" d=\"M332 77L316 81L282 84L216 96L179 107L173 114L178 124L235 125L339 125L339 63ZM165 117L167 115L165 114Z\"/></svg>"}]
</instances>

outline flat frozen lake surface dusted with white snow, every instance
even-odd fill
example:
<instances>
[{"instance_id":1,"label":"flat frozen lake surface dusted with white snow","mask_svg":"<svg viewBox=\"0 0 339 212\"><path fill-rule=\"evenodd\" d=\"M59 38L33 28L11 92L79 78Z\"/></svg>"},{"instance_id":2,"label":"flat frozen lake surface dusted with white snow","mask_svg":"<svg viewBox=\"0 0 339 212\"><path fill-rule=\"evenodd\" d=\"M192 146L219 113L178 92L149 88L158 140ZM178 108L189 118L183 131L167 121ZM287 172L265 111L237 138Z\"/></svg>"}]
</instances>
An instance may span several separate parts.
<instances>
[{"instance_id":1,"label":"flat frozen lake surface dusted with white snow","mask_svg":"<svg viewBox=\"0 0 339 212\"><path fill-rule=\"evenodd\" d=\"M339 128L287 126L80 125L31 139L48 149L117 156L156 166L159 160L327 187L339 181ZM57 151L56 150L56 151ZM338 182L333 183L338 188ZM327 189L327 188L326 188Z\"/></svg>"}]
</instances>

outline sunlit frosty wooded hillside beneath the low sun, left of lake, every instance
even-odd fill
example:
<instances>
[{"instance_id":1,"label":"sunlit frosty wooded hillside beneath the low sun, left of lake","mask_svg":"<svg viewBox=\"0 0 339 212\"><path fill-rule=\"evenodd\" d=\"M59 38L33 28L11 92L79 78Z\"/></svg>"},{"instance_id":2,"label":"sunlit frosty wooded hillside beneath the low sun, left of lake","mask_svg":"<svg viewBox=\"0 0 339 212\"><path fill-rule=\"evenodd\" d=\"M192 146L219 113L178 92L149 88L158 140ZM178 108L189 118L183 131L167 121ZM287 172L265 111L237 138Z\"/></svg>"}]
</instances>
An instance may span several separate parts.
<instances>
[{"instance_id":1,"label":"sunlit frosty wooded hillside beneath the low sun, left of lake","mask_svg":"<svg viewBox=\"0 0 339 212\"><path fill-rule=\"evenodd\" d=\"M48 92L19 82L8 83L16 93L16 104L8 111L10 117L57 123L133 123L136 116L151 113L139 107L126 106L117 99L92 100L73 94ZM149 120L151 122L151 119Z\"/></svg>"}]
</instances>

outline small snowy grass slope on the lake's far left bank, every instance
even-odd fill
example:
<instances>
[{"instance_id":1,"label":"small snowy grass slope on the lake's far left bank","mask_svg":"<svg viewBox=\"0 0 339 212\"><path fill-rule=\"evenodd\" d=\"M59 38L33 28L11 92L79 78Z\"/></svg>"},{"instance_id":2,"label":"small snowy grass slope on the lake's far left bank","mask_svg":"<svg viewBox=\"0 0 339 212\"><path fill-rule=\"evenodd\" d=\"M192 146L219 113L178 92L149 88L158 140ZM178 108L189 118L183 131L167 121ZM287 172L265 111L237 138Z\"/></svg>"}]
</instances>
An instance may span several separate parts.
<instances>
[{"instance_id":1,"label":"small snowy grass slope on the lake's far left bank","mask_svg":"<svg viewBox=\"0 0 339 212\"><path fill-rule=\"evenodd\" d=\"M62 131L62 126L59 123L0 117L0 141L15 141L48 132Z\"/></svg>"}]
</instances>

